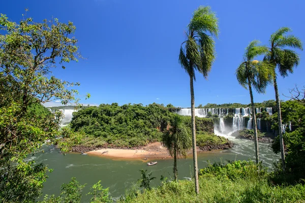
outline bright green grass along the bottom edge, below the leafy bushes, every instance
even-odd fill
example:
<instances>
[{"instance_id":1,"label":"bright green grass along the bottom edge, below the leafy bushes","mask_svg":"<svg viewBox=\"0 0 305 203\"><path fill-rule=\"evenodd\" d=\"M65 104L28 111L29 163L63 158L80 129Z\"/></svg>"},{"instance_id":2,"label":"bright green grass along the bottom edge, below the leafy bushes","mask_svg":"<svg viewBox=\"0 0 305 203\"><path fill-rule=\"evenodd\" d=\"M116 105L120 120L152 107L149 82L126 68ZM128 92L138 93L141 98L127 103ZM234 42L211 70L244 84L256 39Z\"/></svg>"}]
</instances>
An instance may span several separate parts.
<instances>
[{"instance_id":1,"label":"bright green grass along the bottom edge, below the leafy bushes","mask_svg":"<svg viewBox=\"0 0 305 203\"><path fill-rule=\"evenodd\" d=\"M130 202L305 202L302 185L269 186L267 180L231 181L215 177L200 177L199 185L198 196L193 181L184 180L146 190Z\"/></svg>"}]
</instances>

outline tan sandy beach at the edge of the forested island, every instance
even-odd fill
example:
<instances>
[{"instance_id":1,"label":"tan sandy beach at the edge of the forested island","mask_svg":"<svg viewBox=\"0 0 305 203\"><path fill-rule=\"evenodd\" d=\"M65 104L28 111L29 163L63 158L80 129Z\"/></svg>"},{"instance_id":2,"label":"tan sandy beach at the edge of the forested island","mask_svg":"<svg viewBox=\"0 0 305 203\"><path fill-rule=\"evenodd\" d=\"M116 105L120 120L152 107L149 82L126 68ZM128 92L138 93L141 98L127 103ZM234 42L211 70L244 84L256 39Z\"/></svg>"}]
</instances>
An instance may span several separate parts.
<instances>
[{"instance_id":1,"label":"tan sandy beach at the edge of the forested island","mask_svg":"<svg viewBox=\"0 0 305 203\"><path fill-rule=\"evenodd\" d=\"M100 149L86 152L87 154L116 158L170 158L166 148L160 142L150 143L137 150Z\"/></svg>"}]
</instances>

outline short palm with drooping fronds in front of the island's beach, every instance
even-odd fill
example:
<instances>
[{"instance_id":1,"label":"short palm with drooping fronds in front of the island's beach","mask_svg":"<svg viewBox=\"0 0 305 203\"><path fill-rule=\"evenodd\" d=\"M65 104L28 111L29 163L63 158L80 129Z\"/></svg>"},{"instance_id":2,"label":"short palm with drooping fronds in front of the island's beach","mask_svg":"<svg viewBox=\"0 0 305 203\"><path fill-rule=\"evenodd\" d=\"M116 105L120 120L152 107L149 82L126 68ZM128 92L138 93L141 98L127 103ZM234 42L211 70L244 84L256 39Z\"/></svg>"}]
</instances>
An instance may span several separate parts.
<instances>
[{"instance_id":1,"label":"short palm with drooping fronds in front of the island's beach","mask_svg":"<svg viewBox=\"0 0 305 203\"><path fill-rule=\"evenodd\" d=\"M174 157L174 179L177 181L177 156L187 157L187 151L192 147L192 140L182 122L180 115L174 115L170 129L162 137L162 144L167 148L170 156Z\"/></svg>"}]
</instances>

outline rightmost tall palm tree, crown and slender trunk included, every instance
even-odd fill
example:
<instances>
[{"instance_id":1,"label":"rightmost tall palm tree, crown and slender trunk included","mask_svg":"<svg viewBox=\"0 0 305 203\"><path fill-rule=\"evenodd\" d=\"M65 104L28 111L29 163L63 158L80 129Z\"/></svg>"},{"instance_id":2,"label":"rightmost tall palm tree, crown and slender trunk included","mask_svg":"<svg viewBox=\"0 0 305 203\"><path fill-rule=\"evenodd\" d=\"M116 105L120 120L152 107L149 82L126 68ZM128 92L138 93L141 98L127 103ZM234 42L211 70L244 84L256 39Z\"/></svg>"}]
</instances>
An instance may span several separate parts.
<instances>
[{"instance_id":1,"label":"rightmost tall palm tree, crown and slender trunk included","mask_svg":"<svg viewBox=\"0 0 305 203\"><path fill-rule=\"evenodd\" d=\"M273 70L273 85L276 92L276 102L278 108L278 123L279 123L279 136L281 146L281 158L283 172L285 172L285 152L284 152L284 141L282 132L282 117L281 117L281 104L277 83L276 68L282 77L286 77L288 72L293 73L293 68L299 64L300 58L298 54L291 49L287 48L298 48L303 50L302 42L300 39L293 35L287 35L290 32L290 28L281 27L278 31L273 33L270 37L270 47L264 57L264 61L268 61ZM287 48L286 48L287 47Z\"/></svg>"}]
</instances>

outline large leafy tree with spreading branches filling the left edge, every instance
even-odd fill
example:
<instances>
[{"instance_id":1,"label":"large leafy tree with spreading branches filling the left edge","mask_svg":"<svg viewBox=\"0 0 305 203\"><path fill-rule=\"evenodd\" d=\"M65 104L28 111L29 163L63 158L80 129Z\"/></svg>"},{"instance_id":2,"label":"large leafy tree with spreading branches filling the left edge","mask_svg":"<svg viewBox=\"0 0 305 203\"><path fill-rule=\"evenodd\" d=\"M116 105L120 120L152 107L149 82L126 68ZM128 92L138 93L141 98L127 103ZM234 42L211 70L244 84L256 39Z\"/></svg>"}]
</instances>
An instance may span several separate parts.
<instances>
[{"instance_id":1,"label":"large leafy tree with spreading branches filling the left edge","mask_svg":"<svg viewBox=\"0 0 305 203\"><path fill-rule=\"evenodd\" d=\"M60 117L37 109L55 99L78 101L77 90L70 88L79 83L51 74L57 64L65 68L65 62L80 57L77 40L70 37L75 26L56 18L16 23L1 14L0 31L0 199L32 202L46 181L47 167L24 158L57 133Z\"/></svg>"}]
</instances>

